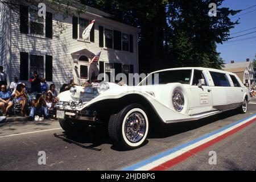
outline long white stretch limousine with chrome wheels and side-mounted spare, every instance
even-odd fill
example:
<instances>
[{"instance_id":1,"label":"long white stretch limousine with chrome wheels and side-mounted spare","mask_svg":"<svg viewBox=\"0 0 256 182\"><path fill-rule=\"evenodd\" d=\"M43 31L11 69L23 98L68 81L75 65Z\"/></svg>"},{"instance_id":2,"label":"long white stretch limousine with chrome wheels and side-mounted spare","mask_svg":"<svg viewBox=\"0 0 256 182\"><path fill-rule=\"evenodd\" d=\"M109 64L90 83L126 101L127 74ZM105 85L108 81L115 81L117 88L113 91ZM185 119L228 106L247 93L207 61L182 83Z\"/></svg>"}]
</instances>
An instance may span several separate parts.
<instances>
[{"instance_id":1,"label":"long white stretch limousine with chrome wheels and side-mounted spare","mask_svg":"<svg viewBox=\"0 0 256 182\"><path fill-rule=\"evenodd\" d=\"M142 145L153 121L193 121L230 109L246 113L250 94L234 73L174 68L150 73L137 86L74 86L58 99L57 118L67 133L103 124L114 144L131 149Z\"/></svg>"}]
</instances>

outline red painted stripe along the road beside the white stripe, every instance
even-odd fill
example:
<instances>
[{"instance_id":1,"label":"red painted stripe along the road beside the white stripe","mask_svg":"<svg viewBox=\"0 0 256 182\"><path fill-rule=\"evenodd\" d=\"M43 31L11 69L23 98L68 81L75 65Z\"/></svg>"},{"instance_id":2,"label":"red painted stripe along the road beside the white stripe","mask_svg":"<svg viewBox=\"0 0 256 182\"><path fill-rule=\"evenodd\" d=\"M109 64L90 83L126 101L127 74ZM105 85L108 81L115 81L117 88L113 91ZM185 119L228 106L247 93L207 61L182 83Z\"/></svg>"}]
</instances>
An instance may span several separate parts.
<instances>
[{"instance_id":1,"label":"red painted stripe along the road beside the white stripe","mask_svg":"<svg viewBox=\"0 0 256 182\"><path fill-rule=\"evenodd\" d=\"M174 159L168 160L167 162L165 162L165 163L163 163L159 166L156 166L155 168L150 169L150 171L163 171L163 170L166 170L168 168L171 168L171 167L175 166L176 164L179 164L183 160L189 158L193 154L196 154L196 153L204 150L205 148L208 148L208 147L212 146L213 144L215 144L217 142L220 142L221 140L225 139L226 137L229 137L230 135L236 133L237 131L240 131L241 129L250 125L254 121L256 121L256 118L252 119L251 121L248 121L248 122L244 123L241 126L236 127L233 130L230 130L229 132L227 132L227 133L225 133L225 134L223 134L223 135L221 135L217 138L214 138L214 139L210 140L207 143L201 144L201 146L198 146L196 148L193 148L193 149L187 151L184 154L181 154L180 156L177 156Z\"/></svg>"}]
</instances>

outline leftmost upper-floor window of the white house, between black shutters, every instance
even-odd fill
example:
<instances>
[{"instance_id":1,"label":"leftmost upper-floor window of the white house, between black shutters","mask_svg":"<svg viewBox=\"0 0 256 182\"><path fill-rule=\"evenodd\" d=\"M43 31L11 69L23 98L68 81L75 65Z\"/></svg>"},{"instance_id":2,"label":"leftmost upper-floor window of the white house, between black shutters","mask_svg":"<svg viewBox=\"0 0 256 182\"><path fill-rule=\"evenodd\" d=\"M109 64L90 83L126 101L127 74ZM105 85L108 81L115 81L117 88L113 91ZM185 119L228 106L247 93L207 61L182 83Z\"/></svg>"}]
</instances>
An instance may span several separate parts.
<instances>
[{"instance_id":1,"label":"leftmost upper-floor window of the white house, between black shutters","mask_svg":"<svg viewBox=\"0 0 256 182\"><path fill-rule=\"evenodd\" d=\"M44 35L44 18L34 9L30 9L30 34Z\"/></svg>"}]
</instances>

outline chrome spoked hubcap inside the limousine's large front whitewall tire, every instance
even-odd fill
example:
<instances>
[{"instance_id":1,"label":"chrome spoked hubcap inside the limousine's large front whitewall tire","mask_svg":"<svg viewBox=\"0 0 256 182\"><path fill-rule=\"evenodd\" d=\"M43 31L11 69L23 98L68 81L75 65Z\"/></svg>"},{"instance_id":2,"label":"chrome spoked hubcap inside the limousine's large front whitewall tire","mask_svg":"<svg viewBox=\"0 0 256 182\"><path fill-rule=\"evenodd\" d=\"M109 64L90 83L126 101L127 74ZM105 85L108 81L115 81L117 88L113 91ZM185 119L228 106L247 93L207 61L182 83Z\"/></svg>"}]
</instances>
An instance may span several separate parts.
<instances>
[{"instance_id":1,"label":"chrome spoked hubcap inside the limousine's large front whitewall tire","mask_svg":"<svg viewBox=\"0 0 256 182\"><path fill-rule=\"evenodd\" d=\"M125 122L125 136L131 143L139 142L146 132L146 121L141 113L131 113Z\"/></svg>"}]
</instances>

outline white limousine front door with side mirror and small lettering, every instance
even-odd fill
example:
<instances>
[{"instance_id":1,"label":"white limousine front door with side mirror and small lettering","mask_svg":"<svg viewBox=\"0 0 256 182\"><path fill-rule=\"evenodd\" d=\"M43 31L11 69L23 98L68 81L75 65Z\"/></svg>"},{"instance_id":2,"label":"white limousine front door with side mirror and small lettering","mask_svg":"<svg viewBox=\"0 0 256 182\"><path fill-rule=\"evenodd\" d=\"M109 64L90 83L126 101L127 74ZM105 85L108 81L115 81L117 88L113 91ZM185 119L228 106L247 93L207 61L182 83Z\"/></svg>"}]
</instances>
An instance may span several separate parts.
<instances>
[{"instance_id":1,"label":"white limousine front door with side mirror and small lettering","mask_svg":"<svg viewBox=\"0 0 256 182\"><path fill-rule=\"evenodd\" d=\"M205 114L212 110L212 87L208 86L208 80L204 72L194 69L191 85L191 115Z\"/></svg>"}]
</instances>

